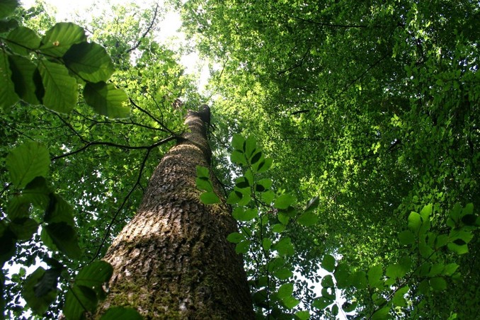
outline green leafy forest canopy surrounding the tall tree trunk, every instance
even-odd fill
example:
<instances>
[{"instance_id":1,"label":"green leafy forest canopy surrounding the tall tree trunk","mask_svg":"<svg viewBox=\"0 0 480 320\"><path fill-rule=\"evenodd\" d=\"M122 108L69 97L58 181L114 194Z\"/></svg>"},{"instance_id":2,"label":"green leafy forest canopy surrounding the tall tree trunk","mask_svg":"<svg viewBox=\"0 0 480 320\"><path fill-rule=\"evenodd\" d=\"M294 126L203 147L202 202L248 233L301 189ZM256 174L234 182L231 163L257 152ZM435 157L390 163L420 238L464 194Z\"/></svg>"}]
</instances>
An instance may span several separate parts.
<instances>
[{"instance_id":1,"label":"green leafy forest canopy surrounding the tall tree trunk","mask_svg":"<svg viewBox=\"0 0 480 320\"><path fill-rule=\"evenodd\" d=\"M190 47L156 37L170 9ZM202 103L259 319L479 316L478 1L172 0L57 23L6 0L0 19L5 318L94 312L100 259Z\"/></svg>"}]
</instances>

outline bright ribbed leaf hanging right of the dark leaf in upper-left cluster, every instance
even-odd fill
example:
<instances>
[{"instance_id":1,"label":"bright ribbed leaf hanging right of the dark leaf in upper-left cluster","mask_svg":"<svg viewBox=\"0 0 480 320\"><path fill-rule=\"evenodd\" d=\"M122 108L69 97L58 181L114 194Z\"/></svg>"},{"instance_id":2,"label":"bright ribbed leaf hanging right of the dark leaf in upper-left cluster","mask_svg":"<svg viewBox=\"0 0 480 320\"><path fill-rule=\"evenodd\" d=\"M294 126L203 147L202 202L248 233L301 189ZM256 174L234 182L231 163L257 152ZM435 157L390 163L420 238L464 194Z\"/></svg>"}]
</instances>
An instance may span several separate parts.
<instances>
[{"instance_id":1,"label":"bright ribbed leaf hanging right of the dark leaf in upper-left cluster","mask_svg":"<svg viewBox=\"0 0 480 320\"><path fill-rule=\"evenodd\" d=\"M45 94L42 103L45 107L59 113L69 113L76 105L79 96L76 81L66 67L47 60L38 66Z\"/></svg>"}]
</instances>

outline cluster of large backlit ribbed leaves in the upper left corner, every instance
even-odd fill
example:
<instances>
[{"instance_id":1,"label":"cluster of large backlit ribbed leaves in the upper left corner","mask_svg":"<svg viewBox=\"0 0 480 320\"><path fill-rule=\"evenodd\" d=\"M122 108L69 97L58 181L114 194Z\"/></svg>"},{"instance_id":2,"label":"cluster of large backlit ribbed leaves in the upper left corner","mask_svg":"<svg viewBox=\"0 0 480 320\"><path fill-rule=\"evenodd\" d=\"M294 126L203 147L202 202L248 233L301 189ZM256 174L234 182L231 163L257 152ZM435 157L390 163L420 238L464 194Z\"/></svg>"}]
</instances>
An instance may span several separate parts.
<instances>
[{"instance_id":1,"label":"cluster of large backlit ribbed leaves in the upper left corner","mask_svg":"<svg viewBox=\"0 0 480 320\"><path fill-rule=\"evenodd\" d=\"M7 5L4 10L9 12ZM23 100L69 113L81 84L86 103L97 113L110 118L130 116L125 92L105 83L114 71L112 59L101 45L86 41L79 25L57 23L41 39L30 28L18 26L2 45L9 50L0 50L0 108ZM32 52L38 58L33 59Z\"/></svg>"}]
</instances>

